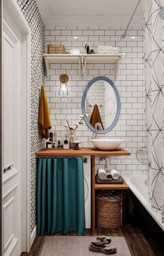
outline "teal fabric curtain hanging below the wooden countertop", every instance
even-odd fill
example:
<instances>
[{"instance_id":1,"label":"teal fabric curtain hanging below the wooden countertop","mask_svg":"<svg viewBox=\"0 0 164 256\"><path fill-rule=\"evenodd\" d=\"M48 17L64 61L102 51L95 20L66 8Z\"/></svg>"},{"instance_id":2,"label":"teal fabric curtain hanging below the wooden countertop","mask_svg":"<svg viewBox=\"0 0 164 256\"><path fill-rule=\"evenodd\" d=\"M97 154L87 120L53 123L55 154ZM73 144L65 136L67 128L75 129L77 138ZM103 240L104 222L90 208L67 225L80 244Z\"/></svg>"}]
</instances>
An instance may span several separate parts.
<instances>
[{"instance_id":1,"label":"teal fabric curtain hanging below the wooden countertop","mask_svg":"<svg viewBox=\"0 0 164 256\"><path fill-rule=\"evenodd\" d=\"M85 231L82 158L41 158L37 171L37 235Z\"/></svg>"}]
</instances>

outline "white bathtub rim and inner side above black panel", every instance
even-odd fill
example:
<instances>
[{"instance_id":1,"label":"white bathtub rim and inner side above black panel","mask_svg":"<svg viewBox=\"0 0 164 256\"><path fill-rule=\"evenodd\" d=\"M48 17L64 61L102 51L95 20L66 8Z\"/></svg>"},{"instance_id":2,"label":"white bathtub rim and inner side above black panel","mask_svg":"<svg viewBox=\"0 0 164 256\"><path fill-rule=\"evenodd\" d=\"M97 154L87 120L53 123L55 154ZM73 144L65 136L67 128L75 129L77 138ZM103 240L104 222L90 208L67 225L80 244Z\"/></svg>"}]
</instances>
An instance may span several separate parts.
<instances>
[{"instance_id":1,"label":"white bathtub rim and inner side above black panel","mask_svg":"<svg viewBox=\"0 0 164 256\"><path fill-rule=\"evenodd\" d=\"M161 222L161 215L151 210L151 204L148 201L148 180L147 175L122 175L129 189L135 194L137 199L142 203L145 209L154 218L156 223L163 229L164 224Z\"/></svg>"}]
</instances>

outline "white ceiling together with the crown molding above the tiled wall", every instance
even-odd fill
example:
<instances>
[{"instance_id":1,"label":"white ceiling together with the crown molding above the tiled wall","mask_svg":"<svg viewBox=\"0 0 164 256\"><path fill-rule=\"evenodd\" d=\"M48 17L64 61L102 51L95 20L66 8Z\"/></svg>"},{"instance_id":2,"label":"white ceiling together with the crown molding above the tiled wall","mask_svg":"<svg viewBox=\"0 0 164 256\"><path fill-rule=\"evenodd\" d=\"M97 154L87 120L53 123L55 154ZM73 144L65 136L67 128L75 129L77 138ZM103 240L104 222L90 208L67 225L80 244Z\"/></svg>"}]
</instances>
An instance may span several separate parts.
<instances>
[{"instance_id":1,"label":"white ceiling together with the crown molding above the tiled wall","mask_svg":"<svg viewBox=\"0 0 164 256\"><path fill-rule=\"evenodd\" d=\"M129 18L138 0L36 0L45 24L59 18ZM141 17L143 0L135 17ZM85 20L84 20L85 22Z\"/></svg>"}]
</instances>

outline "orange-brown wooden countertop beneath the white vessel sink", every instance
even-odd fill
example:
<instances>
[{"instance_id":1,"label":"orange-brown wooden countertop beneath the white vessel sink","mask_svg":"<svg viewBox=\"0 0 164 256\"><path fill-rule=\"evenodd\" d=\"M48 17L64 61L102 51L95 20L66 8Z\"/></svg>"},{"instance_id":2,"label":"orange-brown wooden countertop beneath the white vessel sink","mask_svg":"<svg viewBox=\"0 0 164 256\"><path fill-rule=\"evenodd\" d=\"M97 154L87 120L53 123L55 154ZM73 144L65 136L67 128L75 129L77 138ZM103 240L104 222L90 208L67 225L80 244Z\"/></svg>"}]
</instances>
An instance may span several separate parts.
<instances>
[{"instance_id":1,"label":"orange-brown wooden countertop beneath the white vessel sink","mask_svg":"<svg viewBox=\"0 0 164 256\"><path fill-rule=\"evenodd\" d=\"M92 147L75 149L41 149L36 156L129 156L131 153L119 147L113 151L102 151Z\"/></svg>"}]
</instances>

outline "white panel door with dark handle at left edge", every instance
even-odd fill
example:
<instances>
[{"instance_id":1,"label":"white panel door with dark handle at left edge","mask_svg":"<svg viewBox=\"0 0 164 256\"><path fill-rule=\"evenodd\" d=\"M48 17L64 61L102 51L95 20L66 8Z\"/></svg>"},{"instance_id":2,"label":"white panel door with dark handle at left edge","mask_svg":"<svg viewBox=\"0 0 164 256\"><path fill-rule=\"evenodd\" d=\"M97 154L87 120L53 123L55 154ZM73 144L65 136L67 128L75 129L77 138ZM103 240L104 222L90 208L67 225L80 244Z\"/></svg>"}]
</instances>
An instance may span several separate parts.
<instances>
[{"instance_id":1,"label":"white panel door with dark handle at left edge","mask_svg":"<svg viewBox=\"0 0 164 256\"><path fill-rule=\"evenodd\" d=\"M2 48L2 248L3 256L20 256L21 40L20 34L7 24L3 25Z\"/></svg>"}]
</instances>

